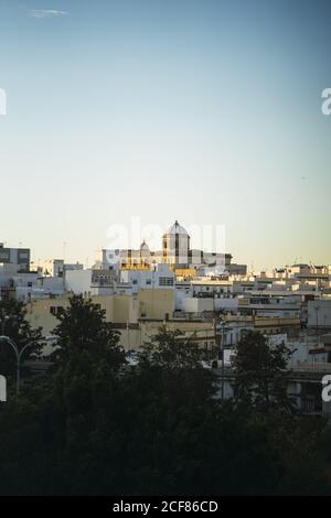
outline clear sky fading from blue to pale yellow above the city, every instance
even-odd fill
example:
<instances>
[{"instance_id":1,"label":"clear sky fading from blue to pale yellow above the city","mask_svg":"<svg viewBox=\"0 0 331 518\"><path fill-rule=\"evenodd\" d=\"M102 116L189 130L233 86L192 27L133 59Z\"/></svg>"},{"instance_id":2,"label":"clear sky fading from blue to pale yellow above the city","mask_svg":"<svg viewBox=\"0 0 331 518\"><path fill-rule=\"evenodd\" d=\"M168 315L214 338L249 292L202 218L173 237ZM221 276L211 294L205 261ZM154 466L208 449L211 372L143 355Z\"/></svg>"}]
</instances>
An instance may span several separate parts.
<instances>
[{"instance_id":1,"label":"clear sky fading from blue to pale yellow above the city","mask_svg":"<svg viewBox=\"0 0 331 518\"><path fill-rule=\"evenodd\" d=\"M92 265L114 228L137 247L178 219L223 226L249 268L330 265L330 20L328 0L0 0L0 241Z\"/></svg>"}]
</instances>

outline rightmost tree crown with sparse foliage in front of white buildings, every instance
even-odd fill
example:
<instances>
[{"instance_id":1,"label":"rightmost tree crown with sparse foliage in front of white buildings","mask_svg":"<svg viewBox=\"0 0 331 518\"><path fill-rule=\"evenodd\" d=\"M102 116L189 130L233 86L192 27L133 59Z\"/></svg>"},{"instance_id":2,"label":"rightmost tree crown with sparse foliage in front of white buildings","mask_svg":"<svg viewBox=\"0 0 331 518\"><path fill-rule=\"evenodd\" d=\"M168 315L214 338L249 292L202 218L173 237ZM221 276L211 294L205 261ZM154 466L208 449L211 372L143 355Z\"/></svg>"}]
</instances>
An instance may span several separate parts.
<instances>
[{"instance_id":1,"label":"rightmost tree crown with sparse foliage in front of white buildings","mask_svg":"<svg viewBox=\"0 0 331 518\"><path fill-rule=\"evenodd\" d=\"M284 344L271 347L263 334L249 331L239 342L233 361L236 400L263 411L293 411L287 393L289 355Z\"/></svg>"}]
</instances>

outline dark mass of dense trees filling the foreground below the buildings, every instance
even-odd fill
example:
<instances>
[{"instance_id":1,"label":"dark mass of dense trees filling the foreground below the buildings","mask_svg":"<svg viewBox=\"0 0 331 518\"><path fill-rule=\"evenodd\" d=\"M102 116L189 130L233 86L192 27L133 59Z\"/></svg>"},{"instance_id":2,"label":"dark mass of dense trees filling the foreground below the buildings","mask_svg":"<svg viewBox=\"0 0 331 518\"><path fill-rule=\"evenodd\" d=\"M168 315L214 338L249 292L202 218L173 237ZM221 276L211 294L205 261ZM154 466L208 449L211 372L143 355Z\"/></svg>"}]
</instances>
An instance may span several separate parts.
<instances>
[{"instance_id":1,"label":"dark mass of dense trees filling the foreground below the buildings","mask_svg":"<svg viewBox=\"0 0 331 518\"><path fill-rule=\"evenodd\" d=\"M54 332L53 370L0 407L1 494L330 492L323 420L220 401L178 333L161 328L126 363L104 312L82 298Z\"/></svg>"}]
</instances>

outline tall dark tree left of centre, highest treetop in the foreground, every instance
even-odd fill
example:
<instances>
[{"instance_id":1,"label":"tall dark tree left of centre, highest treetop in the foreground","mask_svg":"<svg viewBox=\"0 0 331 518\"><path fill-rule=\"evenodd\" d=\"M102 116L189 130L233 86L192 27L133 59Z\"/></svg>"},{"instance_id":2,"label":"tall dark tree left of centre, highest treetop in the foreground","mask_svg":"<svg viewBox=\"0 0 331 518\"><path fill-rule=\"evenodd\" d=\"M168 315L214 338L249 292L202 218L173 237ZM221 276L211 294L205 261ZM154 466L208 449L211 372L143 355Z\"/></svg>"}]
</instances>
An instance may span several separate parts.
<instances>
[{"instance_id":1,"label":"tall dark tree left of centre, highest treetop in the foreground","mask_svg":"<svg viewBox=\"0 0 331 518\"><path fill-rule=\"evenodd\" d=\"M125 352L105 311L88 299L72 296L58 320L51 386L51 433L56 430L61 451L56 464L64 493L93 493L95 484L103 487L103 471L108 484L113 479L111 462L109 471L105 458L109 441L113 452L114 402Z\"/></svg>"}]
</instances>

